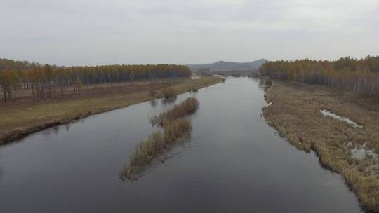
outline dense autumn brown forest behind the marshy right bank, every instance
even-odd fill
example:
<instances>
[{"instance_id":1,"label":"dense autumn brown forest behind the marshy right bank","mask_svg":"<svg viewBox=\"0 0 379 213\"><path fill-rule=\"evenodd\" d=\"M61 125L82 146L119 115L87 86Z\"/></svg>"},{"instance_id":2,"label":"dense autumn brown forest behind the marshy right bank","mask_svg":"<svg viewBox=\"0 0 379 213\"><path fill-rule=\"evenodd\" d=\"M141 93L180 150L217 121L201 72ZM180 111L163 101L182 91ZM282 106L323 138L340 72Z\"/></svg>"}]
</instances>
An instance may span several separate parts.
<instances>
[{"instance_id":1,"label":"dense autumn brown forest behind the marshy right bank","mask_svg":"<svg viewBox=\"0 0 379 213\"><path fill-rule=\"evenodd\" d=\"M379 56L362 59L295 60L265 62L260 74L295 83L328 85L379 99Z\"/></svg>"}]
</instances>

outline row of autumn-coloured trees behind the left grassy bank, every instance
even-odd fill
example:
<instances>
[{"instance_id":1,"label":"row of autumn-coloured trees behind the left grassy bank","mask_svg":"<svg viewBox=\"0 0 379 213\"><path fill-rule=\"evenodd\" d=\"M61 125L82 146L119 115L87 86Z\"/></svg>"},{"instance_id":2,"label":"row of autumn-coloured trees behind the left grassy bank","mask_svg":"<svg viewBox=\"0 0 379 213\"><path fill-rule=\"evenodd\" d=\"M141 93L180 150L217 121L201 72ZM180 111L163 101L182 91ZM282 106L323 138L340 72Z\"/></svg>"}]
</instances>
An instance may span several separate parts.
<instances>
[{"instance_id":1,"label":"row of autumn-coloured trees behind the left grassy bank","mask_svg":"<svg viewBox=\"0 0 379 213\"><path fill-rule=\"evenodd\" d=\"M102 65L95 67L58 67L8 59L0 59L0 88L4 101L17 99L17 90L32 90L36 99L47 99L58 91L64 96L65 87L74 87L79 93L82 86L88 90L91 84L119 83L188 78L191 71L184 65Z\"/></svg>"}]
</instances>

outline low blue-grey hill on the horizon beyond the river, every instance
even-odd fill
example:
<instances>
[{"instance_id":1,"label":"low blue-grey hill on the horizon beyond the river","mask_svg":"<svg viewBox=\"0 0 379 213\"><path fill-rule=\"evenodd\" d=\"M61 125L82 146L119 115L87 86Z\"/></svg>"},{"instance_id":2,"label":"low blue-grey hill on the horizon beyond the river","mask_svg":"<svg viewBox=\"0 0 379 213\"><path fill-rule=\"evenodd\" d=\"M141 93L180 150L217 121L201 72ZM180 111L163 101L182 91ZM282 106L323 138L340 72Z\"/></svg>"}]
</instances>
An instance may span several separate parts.
<instances>
[{"instance_id":1,"label":"low blue-grey hill on the horizon beyond the river","mask_svg":"<svg viewBox=\"0 0 379 213\"><path fill-rule=\"evenodd\" d=\"M260 65L265 63L267 60L260 59L253 62L224 62L219 61L215 62L213 64L187 64L187 67L191 69L192 71L197 71L201 68L208 68L209 71L215 72L215 71L241 71L241 70L256 70Z\"/></svg>"}]
</instances>

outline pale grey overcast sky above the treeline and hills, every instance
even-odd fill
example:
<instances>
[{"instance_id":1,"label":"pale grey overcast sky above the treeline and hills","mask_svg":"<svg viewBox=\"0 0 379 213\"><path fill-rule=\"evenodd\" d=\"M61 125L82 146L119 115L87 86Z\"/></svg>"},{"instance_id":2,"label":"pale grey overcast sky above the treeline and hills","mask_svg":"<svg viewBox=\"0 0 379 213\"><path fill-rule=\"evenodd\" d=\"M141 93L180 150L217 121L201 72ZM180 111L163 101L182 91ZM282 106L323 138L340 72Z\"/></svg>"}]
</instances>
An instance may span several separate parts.
<instances>
[{"instance_id":1,"label":"pale grey overcast sky above the treeline and hills","mask_svg":"<svg viewBox=\"0 0 379 213\"><path fill-rule=\"evenodd\" d=\"M0 57L58 65L379 55L379 0L1 0Z\"/></svg>"}]
</instances>

